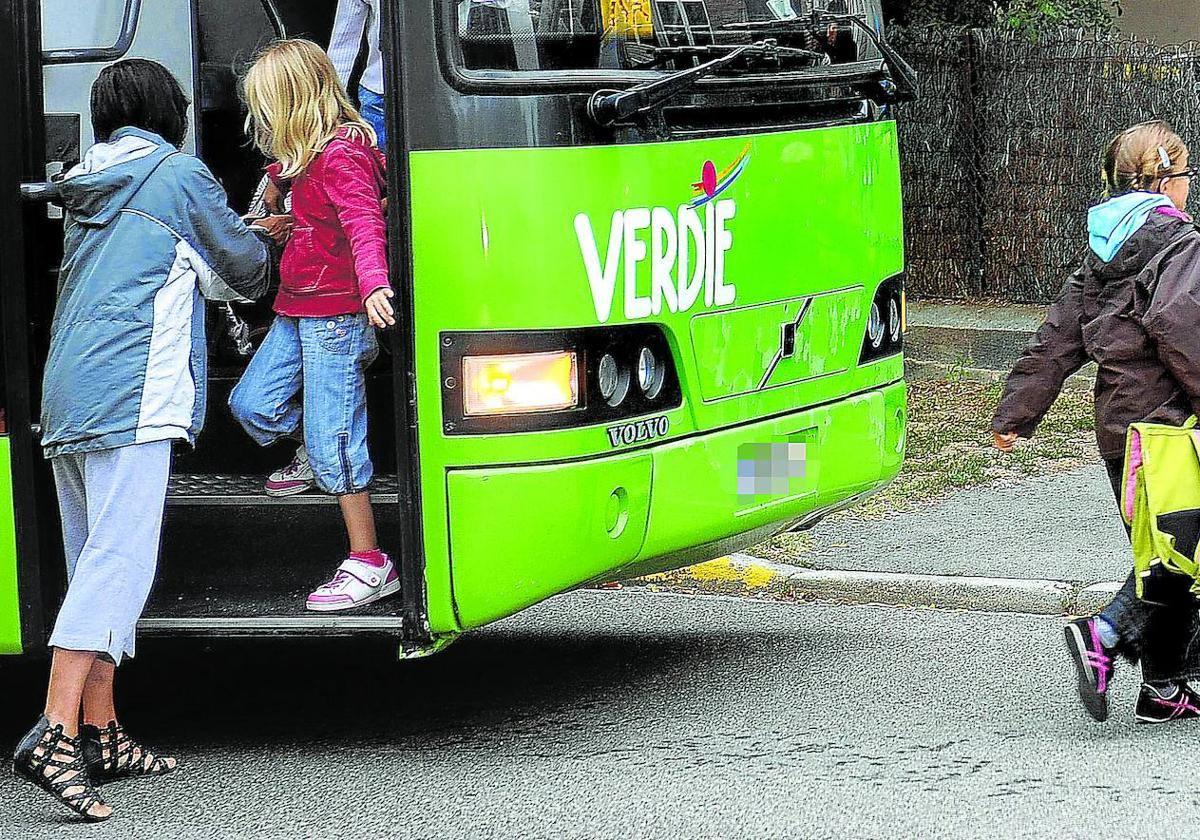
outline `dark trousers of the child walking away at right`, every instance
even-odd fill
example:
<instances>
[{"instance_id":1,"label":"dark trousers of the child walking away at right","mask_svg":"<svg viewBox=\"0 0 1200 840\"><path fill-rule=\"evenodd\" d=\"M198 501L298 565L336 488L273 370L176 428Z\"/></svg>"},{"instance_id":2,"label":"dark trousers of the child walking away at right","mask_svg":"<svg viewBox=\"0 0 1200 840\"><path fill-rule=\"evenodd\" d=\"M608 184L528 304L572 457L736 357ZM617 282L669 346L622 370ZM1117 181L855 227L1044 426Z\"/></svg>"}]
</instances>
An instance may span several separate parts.
<instances>
[{"instance_id":1,"label":"dark trousers of the child walking away at right","mask_svg":"<svg viewBox=\"0 0 1200 840\"><path fill-rule=\"evenodd\" d=\"M1121 504L1121 458L1105 460L1112 494ZM1128 530L1128 528L1126 529ZM1200 630L1194 606L1162 606L1138 598L1133 572L1100 616L1121 634L1121 653L1141 662L1142 679L1164 683L1200 678Z\"/></svg>"}]
</instances>

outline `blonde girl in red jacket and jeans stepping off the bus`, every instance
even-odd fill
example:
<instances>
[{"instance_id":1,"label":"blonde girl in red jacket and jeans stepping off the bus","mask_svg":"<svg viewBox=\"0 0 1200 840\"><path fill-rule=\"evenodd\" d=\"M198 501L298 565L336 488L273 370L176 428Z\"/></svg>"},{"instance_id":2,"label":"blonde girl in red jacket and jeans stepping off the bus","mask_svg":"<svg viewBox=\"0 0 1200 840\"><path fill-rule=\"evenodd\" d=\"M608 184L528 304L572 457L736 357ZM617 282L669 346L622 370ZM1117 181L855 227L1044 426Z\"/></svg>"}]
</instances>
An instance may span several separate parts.
<instances>
[{"instance_id":1,"label":"blonde girl in red jacket and jeans stepping off the bus","mask_svg":"<svg viewBox=\"0 0 1200 840\"><path fill-rule=\"evenodd\" d=\"M280 269L277 317L229 406L263 446L302 437L293 472L304 457L317 486L337 496L349 556L307 607L348 610L400 590L367 494L366 368L379 353L373 328L395 324L384 158L374 128L311 41L268 47L246 76L246 102L247 131L275 158L268 174L290 191L296 221Z\"/></svg>"}]
</instances>

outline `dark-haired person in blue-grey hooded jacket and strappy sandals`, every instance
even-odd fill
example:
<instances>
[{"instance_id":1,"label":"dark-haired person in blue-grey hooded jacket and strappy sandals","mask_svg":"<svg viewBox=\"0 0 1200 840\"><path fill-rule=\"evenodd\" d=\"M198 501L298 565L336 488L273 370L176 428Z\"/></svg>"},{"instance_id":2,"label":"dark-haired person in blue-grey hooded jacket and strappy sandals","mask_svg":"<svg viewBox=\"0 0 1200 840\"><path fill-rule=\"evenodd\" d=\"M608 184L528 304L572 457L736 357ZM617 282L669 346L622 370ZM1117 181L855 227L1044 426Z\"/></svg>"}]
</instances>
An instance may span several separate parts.
<instances>
[{"instance_id":1,"label":"dark-haired person in blue-grey hooded jacket and strappy sandals","mask_svg":"<svg viewBox=\"0 0 1200 840\"><path fill-rule=\"evenodd\" d=\"M13 756L18 775L89 821L94 785L162 775L118 722L116 667L154 583L172 444L204 422L202 295L268 290L268 228L252 233L205 166L180 151L188 101L166 67L121 61L91 89L96 145L60 181L59 299L42 391L67 593L50 635L46 710Z\"/></svg>"}]
</instances>

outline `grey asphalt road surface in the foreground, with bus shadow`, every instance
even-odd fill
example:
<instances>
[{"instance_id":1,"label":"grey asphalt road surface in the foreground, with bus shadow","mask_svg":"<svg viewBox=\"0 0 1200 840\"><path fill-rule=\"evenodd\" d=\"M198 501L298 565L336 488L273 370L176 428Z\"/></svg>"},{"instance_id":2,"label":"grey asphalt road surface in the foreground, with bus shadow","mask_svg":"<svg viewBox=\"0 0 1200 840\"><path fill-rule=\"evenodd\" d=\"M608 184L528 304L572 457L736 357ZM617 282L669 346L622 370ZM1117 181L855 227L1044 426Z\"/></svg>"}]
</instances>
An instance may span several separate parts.
<instances>
[{"instance_id":1,"label":"grey asphalt road surface in the foreground, with bus shadow","mask_svg":"<svg viewBox=\"0 0 1200 840\"><path fill-rule=\"evenodd\" d=\"M4 838L1127 838L1196 830L1200 724L1074 702L1057 620L643 592L438 658L146 642L126 720L182 769L71 826L0 774ZM41 671L0 670L0 737Z\"/></svg>"}]
</instances>

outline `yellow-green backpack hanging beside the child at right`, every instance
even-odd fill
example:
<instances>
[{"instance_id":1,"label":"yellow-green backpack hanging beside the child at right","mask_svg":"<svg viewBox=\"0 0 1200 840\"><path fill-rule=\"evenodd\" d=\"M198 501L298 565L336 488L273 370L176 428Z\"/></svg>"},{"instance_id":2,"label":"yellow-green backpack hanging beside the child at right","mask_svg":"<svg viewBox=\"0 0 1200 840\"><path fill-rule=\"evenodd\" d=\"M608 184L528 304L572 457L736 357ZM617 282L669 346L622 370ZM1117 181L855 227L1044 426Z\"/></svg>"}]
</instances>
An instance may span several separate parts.
<instances>
[{"instance_id":1,"label":"yellow-green backpack hanging beside the child at right","mask_svg":"<svg viewBox=\"0 0 1200 840\"><path fill-rule=\"evenodd\" d=\"M1200 430L1138 422L1126 438L1121 515L1130 527L1138 596L1166 588L1200 596ZM1181 577L1182 576L1182 577Z\"/></svg>"}]
</instances>

